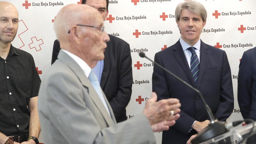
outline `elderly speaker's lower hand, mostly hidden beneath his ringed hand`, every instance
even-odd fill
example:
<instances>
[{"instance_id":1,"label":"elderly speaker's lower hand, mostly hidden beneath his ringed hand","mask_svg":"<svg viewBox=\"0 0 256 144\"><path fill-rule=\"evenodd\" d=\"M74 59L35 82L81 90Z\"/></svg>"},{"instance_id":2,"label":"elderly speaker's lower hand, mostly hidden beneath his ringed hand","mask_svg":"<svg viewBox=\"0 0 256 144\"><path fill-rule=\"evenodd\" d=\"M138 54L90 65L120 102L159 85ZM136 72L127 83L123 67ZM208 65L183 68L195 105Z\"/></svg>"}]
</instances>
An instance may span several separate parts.
<instances>
[{"instance_id":1,"label":"elderly speaker's lower hand, mostly hidden beneath his ringed hand","mask_svg":"<svg viewBox=\"0 0 256 144\"><path fill-rule=\"evenodd\" d=\"M179 117L180 117L179 114L173 115L173 120L170 120L170 121L164 120L162 122L152 125L151 128L153 129L154 132L167 131L169 127L175 124L175 120L177 120Z\"/></svg>"}]
</instances>

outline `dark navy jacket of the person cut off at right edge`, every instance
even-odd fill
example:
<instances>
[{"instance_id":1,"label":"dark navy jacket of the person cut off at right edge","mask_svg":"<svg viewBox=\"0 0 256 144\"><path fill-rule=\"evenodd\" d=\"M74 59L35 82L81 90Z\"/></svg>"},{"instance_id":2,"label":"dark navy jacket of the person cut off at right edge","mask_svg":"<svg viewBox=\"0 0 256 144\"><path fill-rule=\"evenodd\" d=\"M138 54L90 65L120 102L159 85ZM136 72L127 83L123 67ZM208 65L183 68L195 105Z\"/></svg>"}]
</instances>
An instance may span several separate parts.
<instances>
[{"instance_id":1,"label":"dark navy jacket of the person cut off at right edge","mask_svg":"<svg viewBox=\"0 0 256 144\"><path fill-rule=\"evenodd\" d=\"M237 99L244 119L256 120L256 47L243 53L239 64Z\"/></svg>"}]
</instances>

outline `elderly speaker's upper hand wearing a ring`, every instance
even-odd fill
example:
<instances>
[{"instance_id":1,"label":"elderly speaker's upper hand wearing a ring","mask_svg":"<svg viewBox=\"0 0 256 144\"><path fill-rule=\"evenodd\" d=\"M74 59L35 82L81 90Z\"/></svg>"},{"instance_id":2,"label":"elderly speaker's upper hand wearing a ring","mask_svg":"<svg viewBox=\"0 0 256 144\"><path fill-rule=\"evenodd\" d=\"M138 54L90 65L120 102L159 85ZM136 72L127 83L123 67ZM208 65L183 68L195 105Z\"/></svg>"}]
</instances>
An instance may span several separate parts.
<instances>
[{"instance_id":1,"label":"elderly speaker's upper hand wearing a ring","mask_svg":"<svg viewBox=\"0 0 256 144\"><path fill-rule=\"evenodd\" d=\"M147 100L143 113L147 117L150 125L162 122L164 120L173 120L170 111L174 111L174 115L180 112L181 104L178 99L162 99L157 102L157 94L152 93L151 99Z\"/></svg>"}]
</instances>

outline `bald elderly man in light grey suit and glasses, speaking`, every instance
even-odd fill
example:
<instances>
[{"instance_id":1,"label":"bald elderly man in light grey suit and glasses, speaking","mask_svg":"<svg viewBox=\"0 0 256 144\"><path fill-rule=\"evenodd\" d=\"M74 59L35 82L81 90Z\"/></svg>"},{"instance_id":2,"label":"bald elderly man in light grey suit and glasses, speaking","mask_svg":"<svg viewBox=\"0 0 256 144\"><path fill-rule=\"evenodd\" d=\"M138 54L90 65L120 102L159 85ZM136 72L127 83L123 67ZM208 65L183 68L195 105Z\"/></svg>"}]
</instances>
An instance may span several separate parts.
<instances>
[{"instance_id":1,"label":"bald elderly man in light grey suit and glasses, speaking","mask_svg":"<svg viewBox=\"0 0 256 144\"><path fill-rule=\"evenodd\" d=\"M156 143L153 131L167 130L179 118L178 99L147 100L143 113L116 123L94 72L109 36L93 7L63 7L54 22L61 51L39 91L39 117L45 143Z\"/></svg>"}]
</instances>

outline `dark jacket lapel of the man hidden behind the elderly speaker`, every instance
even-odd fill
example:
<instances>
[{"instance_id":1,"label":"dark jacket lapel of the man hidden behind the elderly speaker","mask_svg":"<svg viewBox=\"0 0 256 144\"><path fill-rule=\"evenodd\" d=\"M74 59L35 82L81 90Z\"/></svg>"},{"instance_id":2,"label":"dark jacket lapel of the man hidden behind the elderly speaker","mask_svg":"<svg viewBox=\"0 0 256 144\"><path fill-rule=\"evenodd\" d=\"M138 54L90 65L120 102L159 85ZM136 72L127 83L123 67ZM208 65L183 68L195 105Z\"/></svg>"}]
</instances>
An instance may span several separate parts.
<instances>
[{"instance_id":1,"label":"dark jacket lapel of the man hidden behind the elderly speaker","mask_svg":"<svg viewBox=\"0 0 256 144\"><path fill-rule=\"evenodd\" d=\"M107 42L107 48L105 49L104 55L104 67L103 67L103 71L102 71L102 76L101 76L101 80L100 80L100 87L103 89L103 87L105 86L105 83L107 81L107 78L109 76L109 71L110 71L110 67L111 67L111 42Z\"/></svg>"}]
</instances>

